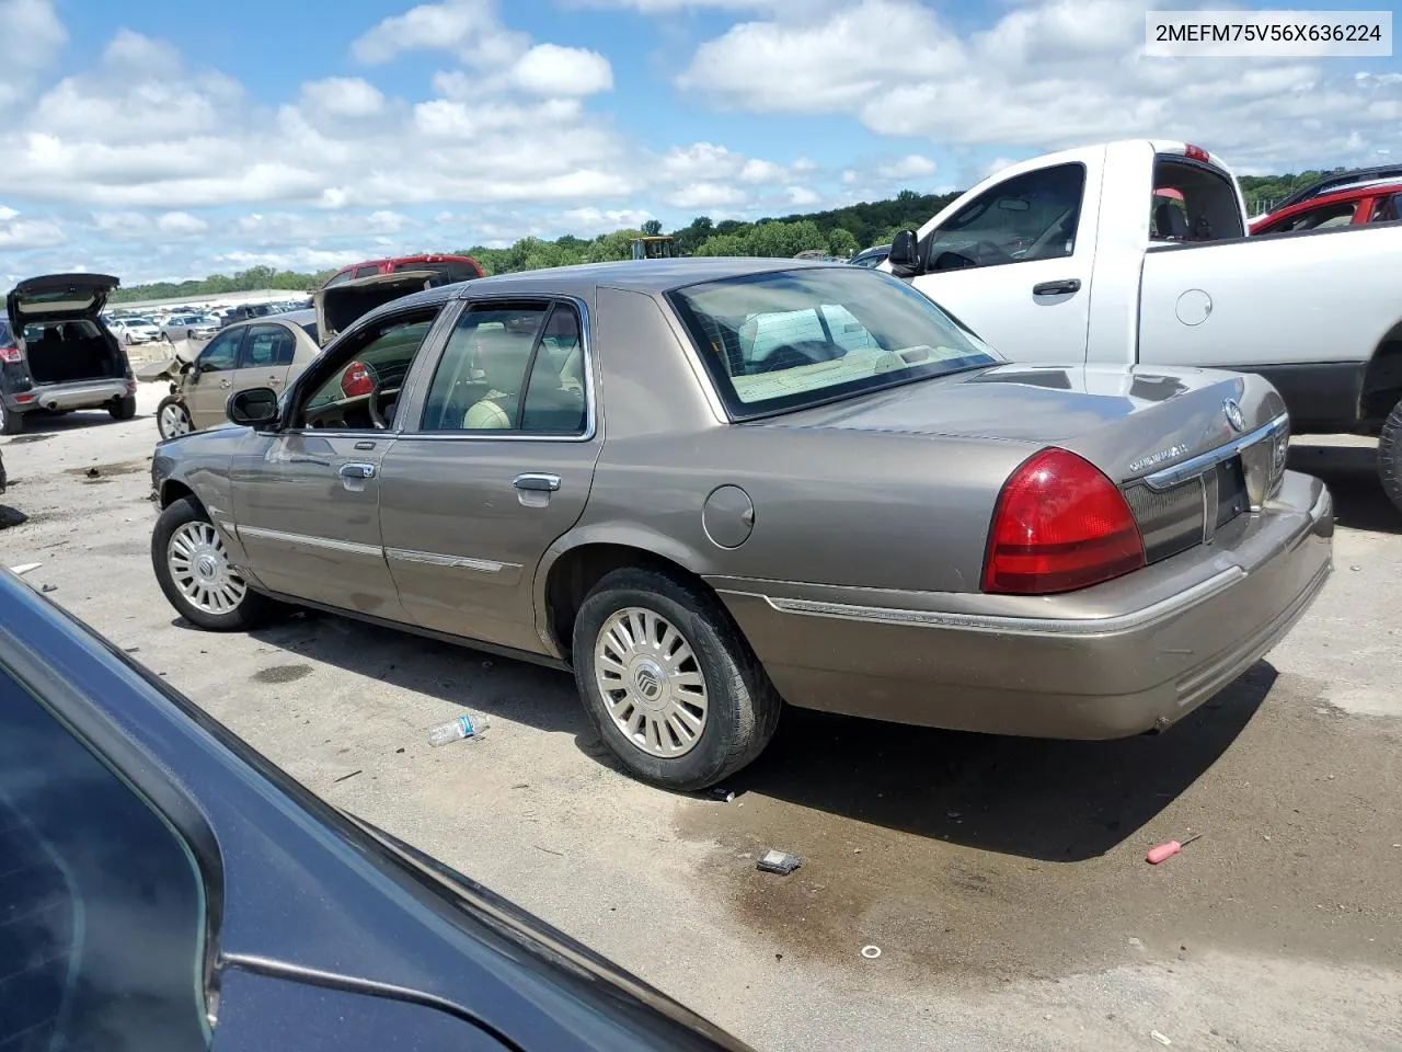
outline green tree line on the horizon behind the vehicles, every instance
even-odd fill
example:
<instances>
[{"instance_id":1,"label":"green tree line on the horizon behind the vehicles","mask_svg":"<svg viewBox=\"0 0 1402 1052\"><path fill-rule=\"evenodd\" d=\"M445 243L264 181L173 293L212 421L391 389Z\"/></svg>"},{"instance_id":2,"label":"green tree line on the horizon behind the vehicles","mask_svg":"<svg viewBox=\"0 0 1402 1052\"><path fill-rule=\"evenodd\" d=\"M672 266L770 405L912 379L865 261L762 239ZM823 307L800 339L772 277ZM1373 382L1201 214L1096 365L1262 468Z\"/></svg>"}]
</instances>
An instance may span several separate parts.
<instances>
[{"instance_id":1,"label":"green tree line on the horizon behind the vehicles","mask_svg":"<svg viewBox=\"0 0 1402 1052\"><path fill-rule=\"evenodd\" d=\"M1343 171L1335 168L1335 171ZM1288 194L1329 173L1301 171L1288 175L1244 175L1239 182L1252 215L1269 209ZM819 250L845 258L875 244L889 244L897 230L916 230L953 201L956 194L917 194L903 189L886 201L864 201L827 212L794 213L744 223L697 216L687 226L672 230L679 255L764 255L789 258L806 250ZM631 257L631 241L644 234L660 234L662 223L651 219L638 230L614 230L593 238L565 234L554 241L523 237L509 248L470 245L456 250L471 255L485 274L515 274L543 267L608 262ZM442 251L442 250L436 250ZM114 303L149 299L195 299L252 289L289 289L310 292L335 271L297 274L272 267L251 267L234 275L215 274L203 281L156 282L132 285L112 295Z\"/></svg>"}]
</instances>

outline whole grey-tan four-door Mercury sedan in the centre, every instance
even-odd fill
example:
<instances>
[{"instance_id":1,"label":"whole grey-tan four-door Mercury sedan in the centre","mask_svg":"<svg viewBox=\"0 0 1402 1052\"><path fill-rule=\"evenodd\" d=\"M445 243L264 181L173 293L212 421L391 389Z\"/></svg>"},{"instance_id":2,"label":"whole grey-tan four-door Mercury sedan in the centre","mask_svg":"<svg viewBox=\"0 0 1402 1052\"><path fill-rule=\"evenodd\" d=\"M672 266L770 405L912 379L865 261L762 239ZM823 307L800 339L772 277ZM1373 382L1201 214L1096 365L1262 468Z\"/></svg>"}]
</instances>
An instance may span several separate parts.
<instances>
[{"instance_id":1,"label":"whole grey-tan four-door Mercury sedan in the centre","mask_svg":"<svg viewBox=\"0 0 1402 1052\"><path fill-rule=\"evenodd\" d=\"M569 669L621 764L673 790L753 762L784 706L1166 728L1332 569L1332 498L1287 470L1267 380L1009 365L847 264L428 289L230 417L151 464L181 616L314 607Z\"/></svg>"}]
</instances>

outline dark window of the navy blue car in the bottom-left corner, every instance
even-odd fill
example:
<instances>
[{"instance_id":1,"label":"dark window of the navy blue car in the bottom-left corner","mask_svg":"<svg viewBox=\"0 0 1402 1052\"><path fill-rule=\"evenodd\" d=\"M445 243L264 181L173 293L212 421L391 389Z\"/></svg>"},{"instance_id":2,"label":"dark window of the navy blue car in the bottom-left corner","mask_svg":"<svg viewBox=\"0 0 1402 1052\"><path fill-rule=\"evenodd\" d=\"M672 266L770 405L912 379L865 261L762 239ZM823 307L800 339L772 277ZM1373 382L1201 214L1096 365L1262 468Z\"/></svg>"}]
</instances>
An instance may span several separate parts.
<instances>
[{"instance_id":1,"label":"dark window of the navy blue car in the bottom-left corner","mask_svg":"<svg viewBox=\"0 0 1402 1052\"><path fill-rule=\"evenodd\" d=\"M0 725L0 1049L209 1048L189 846L4 669Z\"/></svg>"}]
</instances>

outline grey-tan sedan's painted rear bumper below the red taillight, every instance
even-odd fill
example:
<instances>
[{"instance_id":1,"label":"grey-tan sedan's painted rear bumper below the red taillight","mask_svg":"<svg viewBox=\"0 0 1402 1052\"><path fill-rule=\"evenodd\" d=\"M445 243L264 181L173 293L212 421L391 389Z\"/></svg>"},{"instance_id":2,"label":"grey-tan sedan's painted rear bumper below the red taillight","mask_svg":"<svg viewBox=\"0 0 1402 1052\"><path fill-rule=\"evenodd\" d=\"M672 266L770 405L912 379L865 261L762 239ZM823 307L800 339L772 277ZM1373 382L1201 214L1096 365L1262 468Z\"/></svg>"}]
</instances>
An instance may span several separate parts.
<instances>
[{"instance_id":1,"label":"grey-tan sedan's painted rear bumper below the red taillight","mask_svg":"<svg viewBox=\"0 0 1402 1052\"><path fill-rule=\"evenodd\" d=\"M1116 593L1138 592L1140 606L1091 616L1077 609L1095 606L1085 593L1064 605L1075 616L1008 616L1001 598L969 593L869 591L858 603L854 589L712 585L791 704L988 734L1123 738L1206 701L1323 588L1333 502L1322 483L1287 473L1280 497L1249 518L1230 541L1140 571L1143 588L1129 585L1138 575L1123 578Z\"/></svg>"}]
</instances>

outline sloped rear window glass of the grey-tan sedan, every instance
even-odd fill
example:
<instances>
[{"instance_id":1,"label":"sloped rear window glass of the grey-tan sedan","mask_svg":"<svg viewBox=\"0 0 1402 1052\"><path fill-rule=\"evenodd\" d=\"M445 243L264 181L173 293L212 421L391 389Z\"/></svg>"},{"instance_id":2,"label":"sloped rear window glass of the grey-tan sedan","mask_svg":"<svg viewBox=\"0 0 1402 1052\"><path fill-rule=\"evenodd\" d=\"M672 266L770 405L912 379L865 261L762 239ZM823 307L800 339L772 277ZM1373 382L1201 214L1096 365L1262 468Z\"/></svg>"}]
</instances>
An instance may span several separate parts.
<instances>
[{"instance_id":1,"label":"sloped rear window glass of the grey-tan sedan","mask_svg":"<svg viewBox=\"0 0 1402 1052\"><path fill-rule=\"evenodd\" d=\"M864 268L725 278L669 299L736 418L1002 360L931 300Z\"/></svg>"}]
</instances>

